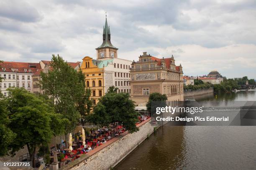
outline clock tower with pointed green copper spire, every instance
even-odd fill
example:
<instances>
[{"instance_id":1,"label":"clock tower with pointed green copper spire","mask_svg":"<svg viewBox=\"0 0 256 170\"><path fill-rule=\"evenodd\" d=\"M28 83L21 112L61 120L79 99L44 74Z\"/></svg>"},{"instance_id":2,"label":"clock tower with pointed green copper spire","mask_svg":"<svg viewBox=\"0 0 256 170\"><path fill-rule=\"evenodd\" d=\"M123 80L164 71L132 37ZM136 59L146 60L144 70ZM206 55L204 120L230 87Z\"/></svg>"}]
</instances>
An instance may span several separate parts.
<instances>
[{"instance_id":1,"label":"clock tower with pointed green copper spire","mask_svg":"<svg viewBox=\"0 0 256 170\"><path fill-rule=\"evenodd\" d=\"M105 25L103 26L103 42L97 50L97 60L117 58L117 47L114 47L110 41L110 28L108 26L107 15Z\"/></svg>"}]
</instances>

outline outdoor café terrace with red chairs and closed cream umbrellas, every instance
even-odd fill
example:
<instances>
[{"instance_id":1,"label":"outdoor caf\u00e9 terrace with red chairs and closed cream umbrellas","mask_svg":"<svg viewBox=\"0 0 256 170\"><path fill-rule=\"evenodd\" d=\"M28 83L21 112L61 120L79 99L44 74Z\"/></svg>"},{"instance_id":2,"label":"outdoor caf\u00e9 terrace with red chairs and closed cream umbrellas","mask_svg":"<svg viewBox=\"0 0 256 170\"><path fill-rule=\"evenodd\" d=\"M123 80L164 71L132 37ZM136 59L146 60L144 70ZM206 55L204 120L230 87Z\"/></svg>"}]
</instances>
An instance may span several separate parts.
<instances>
[{"instance_id":1,"label":"outdoor caf\u00e9 terrace with red chairs and closed cream umbrellas","mask_svg":"<svg viewBox=\"0 0 256 170\"><path fill-rule=\"evenodd\" d=\"M103 128L83 127L82 133L79 131L79 133L73 135L69 134L69 147L65 146L66 141L63 140L62 144L51 148L50 164L54 163L54 152L56 152L59 168L61 168L124 132L123 125L118 125L118 123Z\"/></svg>"}]
</instances>

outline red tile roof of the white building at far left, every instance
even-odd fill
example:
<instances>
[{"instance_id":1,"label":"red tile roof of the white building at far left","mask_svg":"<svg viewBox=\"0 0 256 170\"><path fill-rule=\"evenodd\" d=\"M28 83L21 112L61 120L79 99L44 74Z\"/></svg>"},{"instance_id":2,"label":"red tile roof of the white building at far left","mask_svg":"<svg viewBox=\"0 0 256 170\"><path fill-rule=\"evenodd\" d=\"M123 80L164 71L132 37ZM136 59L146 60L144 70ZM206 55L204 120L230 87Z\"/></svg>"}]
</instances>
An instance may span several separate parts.
<instances>
[{"instance_id":1,"label":"red tile roof of the white building at far left","mask_svg":"<svg viewBox=\"0 0 256 170\"><path fill-rule=\"evenodd\" d=\"M38 69L41 69L41 66L39 63L35 63L35 62L4 61L3 63L0 63L0 71L4 71L3 68L5 68L5 72L35 73Z\"/></svg>"}]
</instances>

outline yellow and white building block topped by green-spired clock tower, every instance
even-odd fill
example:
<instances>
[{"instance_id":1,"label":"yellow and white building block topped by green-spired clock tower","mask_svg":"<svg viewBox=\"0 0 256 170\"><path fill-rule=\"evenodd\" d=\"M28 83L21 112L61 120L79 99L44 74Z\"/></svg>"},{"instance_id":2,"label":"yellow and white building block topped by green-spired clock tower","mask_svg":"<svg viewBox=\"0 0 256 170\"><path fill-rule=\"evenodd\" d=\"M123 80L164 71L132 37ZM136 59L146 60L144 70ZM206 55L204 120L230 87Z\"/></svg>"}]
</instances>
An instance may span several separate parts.
<instances>
[{"instance_id":1,"label":"yellow and white building block topped by green-spired clock tower","mask_svg":"<svg viewBox=\"0 0 256 170\"><path fill-rule=\"evenodd\" d=\"M91 98L97 104L110 86L118 92L130 92L130 68L132 61L118 58L118 48L110 41L107 18L103 27L103 42L97 47L97 60L84 57L80 69L85 74L86 86L92 90Z\"/></svg>"}]
</instances>

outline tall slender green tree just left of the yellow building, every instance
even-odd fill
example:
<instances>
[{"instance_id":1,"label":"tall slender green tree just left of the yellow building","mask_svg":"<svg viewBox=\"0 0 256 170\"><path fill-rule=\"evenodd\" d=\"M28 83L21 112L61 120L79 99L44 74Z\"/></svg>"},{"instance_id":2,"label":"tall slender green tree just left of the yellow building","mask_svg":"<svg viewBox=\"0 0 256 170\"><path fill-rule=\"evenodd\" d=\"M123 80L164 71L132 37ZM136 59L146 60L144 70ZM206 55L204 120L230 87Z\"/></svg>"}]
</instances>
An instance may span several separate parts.
<instances>
[{"instance_id":1,"label":"tall slender green tree just left of the yellow building","mask_svg":"<svg viewBox=\"0 0 256 170\"><path fill-rule=\"evenodd\" d=\"M77 103L81 94L84 94L84 81L79 76L82 75L59 55L52 55L48 73L41 72L41 89L51 97L55 112L69 120L65 124L66 144L67 134L74 130L79 120Z\"/></svg>"}]
</instances>

